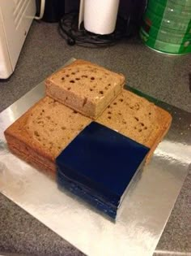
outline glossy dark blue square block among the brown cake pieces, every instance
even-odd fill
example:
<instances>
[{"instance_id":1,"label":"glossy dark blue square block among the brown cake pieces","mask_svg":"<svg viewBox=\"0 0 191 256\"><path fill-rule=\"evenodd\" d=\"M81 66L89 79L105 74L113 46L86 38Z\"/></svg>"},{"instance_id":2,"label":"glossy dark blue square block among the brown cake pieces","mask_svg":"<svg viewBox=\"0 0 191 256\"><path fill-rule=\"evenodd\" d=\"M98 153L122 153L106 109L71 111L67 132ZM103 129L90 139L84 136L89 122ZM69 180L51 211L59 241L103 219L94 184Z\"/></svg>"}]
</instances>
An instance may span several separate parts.
<instances>
[{"instance_id":1,"label":"glossy dark blue square block among the brown cake pieces","mask_svg":"<svg viewBox=\"0 0 191 256\"><path fill-rule=\"evenodd\" d=\"M117 208L149 149L92 122L57 157L57 173Z\"/></svg>"}]
</instances>

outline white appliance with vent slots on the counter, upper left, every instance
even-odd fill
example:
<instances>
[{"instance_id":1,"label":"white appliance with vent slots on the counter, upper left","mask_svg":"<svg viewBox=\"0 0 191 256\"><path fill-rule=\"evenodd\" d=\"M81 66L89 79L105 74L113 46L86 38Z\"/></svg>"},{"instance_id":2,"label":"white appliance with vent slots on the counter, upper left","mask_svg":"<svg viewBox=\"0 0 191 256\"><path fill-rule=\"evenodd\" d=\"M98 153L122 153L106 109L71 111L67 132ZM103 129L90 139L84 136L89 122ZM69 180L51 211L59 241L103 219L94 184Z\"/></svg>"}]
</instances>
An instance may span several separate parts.
<instances>
[{"instance_id":1,"label":"white appliance with vent slots on the counter, upper left","mask_svg":"<svg viewBox=\"0 0 191 256\"><path fill-rule=\"evenodd\" d=\"M42 4L45 7L45 1L41 1ZM14 72L35 15L36 0L0 0L0 79L6 79ZM36 19L42 15L40 13Z\"/></svg>"}]
</instances>

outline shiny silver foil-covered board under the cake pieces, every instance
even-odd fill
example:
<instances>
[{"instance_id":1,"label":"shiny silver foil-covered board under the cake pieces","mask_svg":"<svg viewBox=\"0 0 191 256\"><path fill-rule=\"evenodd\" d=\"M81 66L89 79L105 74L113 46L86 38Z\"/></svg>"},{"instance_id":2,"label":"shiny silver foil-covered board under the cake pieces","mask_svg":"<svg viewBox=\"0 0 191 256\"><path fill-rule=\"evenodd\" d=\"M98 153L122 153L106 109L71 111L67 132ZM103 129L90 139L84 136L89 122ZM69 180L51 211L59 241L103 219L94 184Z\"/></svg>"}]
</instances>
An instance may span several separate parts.
<instances>
[{"instance_id":1,"label":"shiny silver foil-covered board under the cake pieces","mask_svg":"<svg viewBox=\"0 0 191 256\"><path fill-rule=\"evenodd\" d=\"M172 114L172 127L114 223L7 150L3 131L44 94L41 83L0 114L0 192L87 255L152 255L189 169L191 114L150 98Z\"/></svg>"}]
</instances>

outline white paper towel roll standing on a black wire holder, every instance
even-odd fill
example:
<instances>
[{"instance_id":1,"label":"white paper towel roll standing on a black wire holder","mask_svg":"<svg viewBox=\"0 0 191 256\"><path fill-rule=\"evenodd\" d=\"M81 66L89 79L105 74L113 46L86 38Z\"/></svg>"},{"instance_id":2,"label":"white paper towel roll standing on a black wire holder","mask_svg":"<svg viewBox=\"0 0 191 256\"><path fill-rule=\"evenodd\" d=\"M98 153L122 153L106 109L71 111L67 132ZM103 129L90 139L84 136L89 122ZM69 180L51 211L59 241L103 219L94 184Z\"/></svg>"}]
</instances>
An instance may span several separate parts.
<instances>
[{"instance_id":1,"label":"white paper towel roll standing on a black wire holder","mask_svg":"<svg viewBox=\"0 0 191 256\"><path fill-rule=\"evenodd\" d=\"M114 31L119 0L85 0L84 27L91 33L100 35Z\"/></svg>"}]
</instances>

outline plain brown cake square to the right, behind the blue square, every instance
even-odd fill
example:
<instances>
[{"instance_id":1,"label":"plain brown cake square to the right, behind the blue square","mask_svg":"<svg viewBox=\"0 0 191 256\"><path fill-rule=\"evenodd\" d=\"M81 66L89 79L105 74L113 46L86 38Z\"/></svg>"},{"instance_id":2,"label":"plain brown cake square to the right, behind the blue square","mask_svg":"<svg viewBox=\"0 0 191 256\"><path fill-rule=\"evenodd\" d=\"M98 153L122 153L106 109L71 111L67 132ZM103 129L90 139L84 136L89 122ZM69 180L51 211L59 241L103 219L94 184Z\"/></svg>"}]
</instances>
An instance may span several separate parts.
<instances>
[{"instance_id":1,"label":"plain brown cake square to the right, behind the blue square","mask_svg":"<svg viewBox=\"0 0 191 256\"><path fill-rule=\"evenodd\" d=\"M123 89L97 122L149 147L148 162L168 132L172 116L145 98Z\"/></svg>"}]
</instances>

